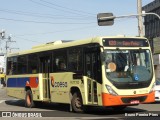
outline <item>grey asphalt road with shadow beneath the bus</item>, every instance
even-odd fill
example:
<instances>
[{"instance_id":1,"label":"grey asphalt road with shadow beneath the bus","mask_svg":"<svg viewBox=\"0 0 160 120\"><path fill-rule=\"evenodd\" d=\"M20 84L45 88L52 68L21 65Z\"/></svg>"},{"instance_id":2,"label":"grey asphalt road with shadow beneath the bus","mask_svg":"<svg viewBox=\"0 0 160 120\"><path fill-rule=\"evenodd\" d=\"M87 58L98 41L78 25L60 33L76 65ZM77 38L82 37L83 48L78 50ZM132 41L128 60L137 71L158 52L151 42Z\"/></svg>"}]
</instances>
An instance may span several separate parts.
<instances>
[{"instance_id":1,"label":"grey asphalt road with shadow beneath the bus","mask_svg":"<svg viewBox=\"0 0 160 120\"><path fill-rule=\"evenodd\" d=\"M12 117L9 117L10 115ZM69 112L69 105L65 104L42 103L37 108L26 108L24 107L24 100L8 97L6 88L0 88L0 120L21 120L22 117L23 119L32 120L66 120L66 118L69 120L158 120L160 119L160 103L141 104L127 107L122 111L113 111L111 108L90 107L85 113L73 113Z\"/></svg>"}]
</instances>

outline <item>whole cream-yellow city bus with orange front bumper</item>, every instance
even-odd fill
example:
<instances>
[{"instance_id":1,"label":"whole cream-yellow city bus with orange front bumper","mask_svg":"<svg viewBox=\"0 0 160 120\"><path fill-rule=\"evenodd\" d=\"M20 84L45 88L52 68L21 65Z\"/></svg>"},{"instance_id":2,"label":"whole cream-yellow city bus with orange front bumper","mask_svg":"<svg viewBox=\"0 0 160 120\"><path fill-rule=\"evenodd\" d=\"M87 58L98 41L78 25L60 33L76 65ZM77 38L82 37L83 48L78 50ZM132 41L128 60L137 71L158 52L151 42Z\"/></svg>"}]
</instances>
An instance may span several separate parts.
<instances>
[{"instance_id":1,"label":"whole cream-yellow city bus with orange front bumper","mask_svg":"<svg viewBox=\"0 0 160 120\"><path fill-rule=\"evenodd\" d=\"M7 94L38 102L116 110L154 102L155 74L143 37L95 37L55 41L7 57Z\"/></svg>"}]
</instances>

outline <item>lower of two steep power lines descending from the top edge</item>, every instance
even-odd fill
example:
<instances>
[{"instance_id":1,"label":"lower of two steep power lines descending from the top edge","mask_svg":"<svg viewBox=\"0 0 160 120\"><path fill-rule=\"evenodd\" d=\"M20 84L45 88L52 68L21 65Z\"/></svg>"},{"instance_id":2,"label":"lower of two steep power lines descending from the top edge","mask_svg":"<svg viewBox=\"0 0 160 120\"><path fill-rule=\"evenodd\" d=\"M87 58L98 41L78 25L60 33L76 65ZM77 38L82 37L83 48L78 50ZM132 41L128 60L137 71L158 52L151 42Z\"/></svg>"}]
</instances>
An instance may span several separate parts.
<instances>
[{"instance_id":1,"label":"lower of two steep power lines descending from the top edge","mask_svg":"<svg viewBox=\"0 0 160 120\"><path fill-rule=\"evenodd\" d=\"M74 12L74 11L67 11L67 10L62 10L62 9L58 9L58 8L54 8L53 6L48 6L48 5L45 5L45 4L42 4L40 2L37 2L37 1L33 1L33 0L30 0L31 2L33 3L36 3L38 5L41 5L41 6L44 6L44 7L48 7L48 8L51 8L51 9L55 9L57 11L63 11L63 12L67 12L67 13L72 13L72 14L76 14L76 15L81 15L81 16L86 16L82 13L77 13L77 12ZM92 16L93 17L93 16Z\"/></svg>"}]
</instances>

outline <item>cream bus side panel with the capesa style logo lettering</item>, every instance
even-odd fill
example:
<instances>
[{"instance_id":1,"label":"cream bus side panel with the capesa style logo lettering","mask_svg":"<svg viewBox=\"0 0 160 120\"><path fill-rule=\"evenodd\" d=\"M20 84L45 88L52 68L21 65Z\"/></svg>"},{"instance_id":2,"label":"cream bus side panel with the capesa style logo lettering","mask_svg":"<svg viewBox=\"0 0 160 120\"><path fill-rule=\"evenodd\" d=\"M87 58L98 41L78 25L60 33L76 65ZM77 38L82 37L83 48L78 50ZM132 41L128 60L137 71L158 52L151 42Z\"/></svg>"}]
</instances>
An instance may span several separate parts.
<instances>
[{"instance_id":1,"label":"cream bus side panel with the capesa style logo lettering","mask_svg":"<svg viewBox=\"0 0 160 120\"><path fill-rule=\"evenodd\" d=\"M51 73L50 74L50 94L51 102L70 103L70 81L73 73Z\"/></svg>"}]
</instances>

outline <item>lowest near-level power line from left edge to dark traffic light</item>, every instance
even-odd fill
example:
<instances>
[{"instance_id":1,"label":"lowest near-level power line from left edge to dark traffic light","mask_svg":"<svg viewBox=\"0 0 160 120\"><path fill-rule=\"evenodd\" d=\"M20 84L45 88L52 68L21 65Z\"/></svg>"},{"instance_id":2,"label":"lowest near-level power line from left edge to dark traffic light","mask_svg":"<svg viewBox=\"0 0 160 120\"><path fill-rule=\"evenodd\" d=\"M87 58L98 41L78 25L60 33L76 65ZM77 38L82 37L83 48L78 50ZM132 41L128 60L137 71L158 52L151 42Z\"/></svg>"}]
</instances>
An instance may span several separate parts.
<instances>
[{"instance_id":1,"label":"lowest near-level power line from left edge to dark traffic light","mask_svg":"<svg viewBox=\"0 0 160 120\"><path fill-rule=\"evenodd\" d=\"M41 23L41 24L94 24L95 22L89 22L89 23L74 23L74 22L45 22L45 21L31 21L31 20L20 20L20 19L12 19L12 18L2 18L2 20L8 20L8 21L17 21L17 22L28 22L28 23Z\"/></svg>"}]
</instances>

